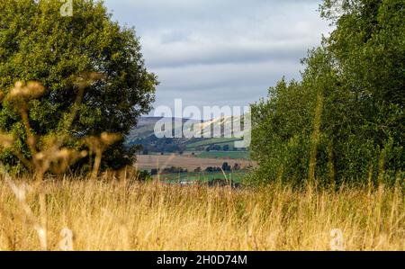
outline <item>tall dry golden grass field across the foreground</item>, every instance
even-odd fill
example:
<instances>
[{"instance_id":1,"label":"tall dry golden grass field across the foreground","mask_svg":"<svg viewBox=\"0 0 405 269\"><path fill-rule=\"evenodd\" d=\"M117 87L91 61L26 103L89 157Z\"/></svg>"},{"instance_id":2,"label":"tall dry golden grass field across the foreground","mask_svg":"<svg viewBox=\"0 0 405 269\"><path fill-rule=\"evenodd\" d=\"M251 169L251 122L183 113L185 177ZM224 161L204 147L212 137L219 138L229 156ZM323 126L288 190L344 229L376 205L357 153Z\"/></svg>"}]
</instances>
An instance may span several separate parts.
<instances>
[{"instance_id":1,"label":"tall dry golden grass field across the foreground","mask_svg":"<svg viewBox=\"0 0 405 269\"><path fill-rule=\"evenodd\" d=\"M58 250L67 229L74 250L330 250L333 229L346 250L405 250L400 187L231 191L106 178L10 184L0 181L2 250Z\"/></svg>"}]
</instances>

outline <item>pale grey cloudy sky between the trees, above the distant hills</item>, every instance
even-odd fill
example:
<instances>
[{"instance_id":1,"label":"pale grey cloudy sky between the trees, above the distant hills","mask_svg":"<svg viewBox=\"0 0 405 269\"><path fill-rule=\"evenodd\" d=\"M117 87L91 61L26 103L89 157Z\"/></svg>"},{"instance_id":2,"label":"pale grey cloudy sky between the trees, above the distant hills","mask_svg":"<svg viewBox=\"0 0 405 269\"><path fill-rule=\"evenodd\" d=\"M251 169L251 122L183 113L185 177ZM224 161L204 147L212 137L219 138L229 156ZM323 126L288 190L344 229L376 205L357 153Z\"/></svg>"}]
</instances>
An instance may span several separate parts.
<instances>
[{"instance_id":1,"label":"pale grey cloudy sky between the trees, above the distant hills","mask_svg":"<svg viewBox=\"0 0 405 269\"><path fill-rule=\"evenodd\" d=\"M321 0L105 0L113 20L135 27L157 75L154 107L248 105L285 76L300 79L308 49L329 22ZM153 111L149 114L153 115Z\"/></svg>"}]
</instances>

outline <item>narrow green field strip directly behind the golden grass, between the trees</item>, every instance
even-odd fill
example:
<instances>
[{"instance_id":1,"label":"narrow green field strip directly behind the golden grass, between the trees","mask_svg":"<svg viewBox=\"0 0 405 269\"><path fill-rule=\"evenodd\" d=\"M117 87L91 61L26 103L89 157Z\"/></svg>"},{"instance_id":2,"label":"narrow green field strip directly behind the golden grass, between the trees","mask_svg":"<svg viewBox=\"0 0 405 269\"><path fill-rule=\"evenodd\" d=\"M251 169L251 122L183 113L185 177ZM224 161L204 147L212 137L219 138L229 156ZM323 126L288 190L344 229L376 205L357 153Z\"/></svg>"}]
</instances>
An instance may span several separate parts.
<instances>
[{"instance_id":1,"label":"narrow green field strip directly behind the golden grass, between the trees","mask_svg":"<svg viewBox=\"0 0 405 269\"><path fill-rule=\"evenodd\" d=\"M246 175L246 172L239 171L239 172L230 172L225 173L225 176L221 172L215 173L179 173L179 174L167 174L167 175L160 175L160 180L169 182L169 183L178 183L180 181L200 181L202 183L209 182L213 179L227 179L232 180L234 183L240 183L243 177Z\"/></svg>"}]
</instances>

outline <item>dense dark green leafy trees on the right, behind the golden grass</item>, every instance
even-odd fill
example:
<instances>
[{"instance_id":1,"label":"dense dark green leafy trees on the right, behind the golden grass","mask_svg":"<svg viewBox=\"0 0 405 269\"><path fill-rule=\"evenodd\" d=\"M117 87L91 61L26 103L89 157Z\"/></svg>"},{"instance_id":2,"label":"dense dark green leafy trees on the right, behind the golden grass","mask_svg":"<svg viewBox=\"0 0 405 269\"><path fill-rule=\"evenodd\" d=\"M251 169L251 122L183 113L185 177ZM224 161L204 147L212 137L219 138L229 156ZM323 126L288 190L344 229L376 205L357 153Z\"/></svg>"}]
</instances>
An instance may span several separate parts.
<instances>
[{"instance_id":1,"label":"dense dark green leafy trees on the right, behind the golden grass","mask_svg":"<svg viewBox=\"0 0 405 269\"><path fill-rule=\"evenodd\" d=\"M401 181L405 2L330 0L320 13L335 30L302 60L302 81L282 79L267 100L252 105L251 156L259 167L249 179L320 185Z\"/></svg>"}]
</instances>

